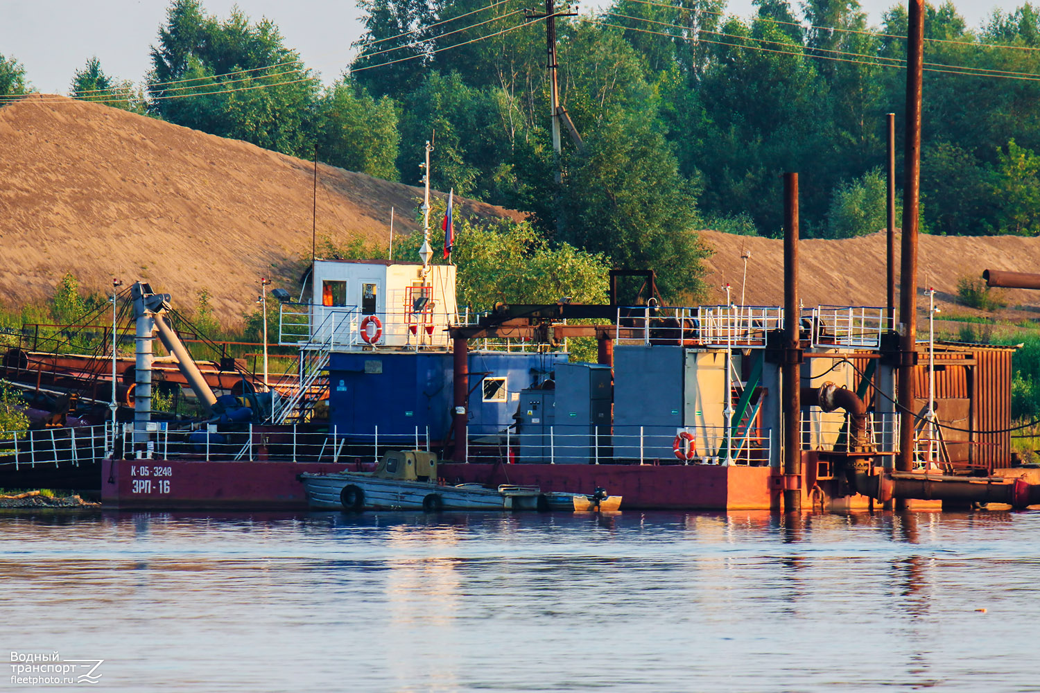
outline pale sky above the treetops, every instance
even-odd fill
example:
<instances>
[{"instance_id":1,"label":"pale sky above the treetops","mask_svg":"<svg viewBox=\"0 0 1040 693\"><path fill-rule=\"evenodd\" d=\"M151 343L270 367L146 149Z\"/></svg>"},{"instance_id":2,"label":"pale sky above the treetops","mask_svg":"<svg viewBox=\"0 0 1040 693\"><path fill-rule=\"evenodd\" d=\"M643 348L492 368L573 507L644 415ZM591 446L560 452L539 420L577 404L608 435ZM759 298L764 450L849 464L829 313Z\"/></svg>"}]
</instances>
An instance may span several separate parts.
<instances>
[{"instance_id":1,"label":"pale sky above the treetops","mask_svg":"<svg viewBox=\"0 0 1040 693\"><path fill-rule=\"evenodd\" d=\"M955 0L971 27L981 25L996 7L1011 11L1023 2ZM861 3L874 23L894 4ZM225 18L236 3L204 0L203 4L207 12ZM321 73L326 83L342 73L352 56L350 44L361 34L360 12L352 1L238 0L237 4L254 21L272 20L285 45L300 51L307 66ZM606 4L608 0L586 0L579 9ZM66 94L73 73L94 55L106 74L140 82L167 6L165 0L0 0L0 54L17 58L32 85L45 92ZM751 0L730 0L729 11L750 15Z\"/></svg>"}]
</instances>

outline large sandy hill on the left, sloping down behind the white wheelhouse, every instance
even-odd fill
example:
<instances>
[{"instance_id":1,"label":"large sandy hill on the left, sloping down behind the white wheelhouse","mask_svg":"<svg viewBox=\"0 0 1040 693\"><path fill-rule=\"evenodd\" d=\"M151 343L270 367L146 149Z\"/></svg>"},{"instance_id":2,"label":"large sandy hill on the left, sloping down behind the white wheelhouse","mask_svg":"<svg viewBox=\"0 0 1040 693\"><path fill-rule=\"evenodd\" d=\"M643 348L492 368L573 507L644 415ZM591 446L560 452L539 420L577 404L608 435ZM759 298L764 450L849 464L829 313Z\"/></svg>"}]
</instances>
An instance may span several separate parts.
<instances>
[{"instance_id":1,"label":"large sandy hill on the left, sloping down behind the white wheelhouse","mask_svg":"<svg viewBox=\"0 0 1040 693\"><path fill-rule=\"evenodd\" d=\"M222 318L252 310L261 276L296 286L311 251L313 164L103 105L30 97L0 108L0 300L137 278L182 309L200 289ZM317 237L417 229L418 188L318 165ZM464 213L519 216L461 202Z\"/></svg>"}]
</instances>

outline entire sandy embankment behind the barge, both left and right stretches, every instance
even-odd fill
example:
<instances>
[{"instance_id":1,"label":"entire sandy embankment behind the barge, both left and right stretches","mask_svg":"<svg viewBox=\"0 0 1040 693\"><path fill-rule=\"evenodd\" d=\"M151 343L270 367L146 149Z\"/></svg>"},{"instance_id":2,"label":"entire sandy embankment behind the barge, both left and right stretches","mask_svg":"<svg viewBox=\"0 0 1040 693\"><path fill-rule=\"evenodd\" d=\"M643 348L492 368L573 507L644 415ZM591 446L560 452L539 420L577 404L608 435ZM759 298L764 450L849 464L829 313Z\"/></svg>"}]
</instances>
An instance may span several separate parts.
<instances>
[{"instance_id":1,"label":"entire sandy embankment behind the barge, both left and right stretches","mask_svg":"<svg viewBox=\"0 0 1040 693\"><path fill-rule=\"evenodd\" d=\"M110 277L148 279L182 309L203 288L214 309L237 321L253 308L260 276L296 286L310 255L312 164L106 106L27 98L0 108L0 301L49 296L72 270L92 291ZM410 232L418 188L318 166L317 236L337 242L361 235L386 240ZM780 204L780 201L777 201ZM464 212L518 217L462 201ZM751 250L746 301L783 302L783 243L712 231L707 265L711 300L724 283L739 299L742 249ZM804 303L885 302L885 236L806 240L801 244ZM986 268L1040 272L1040 239L922 236L920 286L951 301L962 276ZM1008 291L1011 305L1035 317L1040 292ZM959 313L970 313L958 308Z\"/></svg>"}]
</instances>

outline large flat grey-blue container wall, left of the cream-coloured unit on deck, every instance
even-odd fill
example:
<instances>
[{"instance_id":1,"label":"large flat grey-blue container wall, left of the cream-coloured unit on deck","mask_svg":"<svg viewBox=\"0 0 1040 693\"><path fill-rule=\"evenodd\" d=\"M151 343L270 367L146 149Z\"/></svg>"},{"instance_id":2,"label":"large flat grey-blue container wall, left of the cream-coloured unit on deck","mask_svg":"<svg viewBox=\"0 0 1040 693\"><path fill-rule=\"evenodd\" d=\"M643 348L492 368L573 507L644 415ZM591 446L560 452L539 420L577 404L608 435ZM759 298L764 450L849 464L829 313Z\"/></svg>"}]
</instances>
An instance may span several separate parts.
<instances>
[{"instance_id":1,"label":"large flat grey-blue container wall, left of the cream-coloured unit on deck","mask_svg":"<svg viewBox=\"0 0 1040 693\"><path fill-rule=\"evenodd\" d=\"M683 426L684 349L679 346L614 348L614 454L672 459L672 442ZM558 367L557 367L558 368Z\"/></svg>"}]
</instances>

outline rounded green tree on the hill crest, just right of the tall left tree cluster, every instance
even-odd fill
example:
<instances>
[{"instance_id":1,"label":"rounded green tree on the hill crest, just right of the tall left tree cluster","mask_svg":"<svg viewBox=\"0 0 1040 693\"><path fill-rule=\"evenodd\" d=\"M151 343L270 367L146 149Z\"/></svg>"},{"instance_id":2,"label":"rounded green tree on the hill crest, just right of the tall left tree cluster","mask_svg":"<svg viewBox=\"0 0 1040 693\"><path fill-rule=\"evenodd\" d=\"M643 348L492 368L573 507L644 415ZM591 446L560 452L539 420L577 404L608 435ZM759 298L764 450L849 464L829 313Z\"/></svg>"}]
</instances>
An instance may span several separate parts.
<instances>
[{"instance_id":1,"label":"rounded green tree on the hill crest, just right of the tall left tree cluster","mask_svg":"<svg viewBox=\"0 0 1040 693\"><path fill-rule=\"evenodd\" d=\"M322 161L396 181L400 143L389 97L372 99L349 79L337 81L318 103L317 150Z\"/></svg>"}]
</instances>

